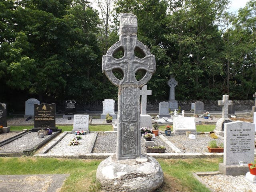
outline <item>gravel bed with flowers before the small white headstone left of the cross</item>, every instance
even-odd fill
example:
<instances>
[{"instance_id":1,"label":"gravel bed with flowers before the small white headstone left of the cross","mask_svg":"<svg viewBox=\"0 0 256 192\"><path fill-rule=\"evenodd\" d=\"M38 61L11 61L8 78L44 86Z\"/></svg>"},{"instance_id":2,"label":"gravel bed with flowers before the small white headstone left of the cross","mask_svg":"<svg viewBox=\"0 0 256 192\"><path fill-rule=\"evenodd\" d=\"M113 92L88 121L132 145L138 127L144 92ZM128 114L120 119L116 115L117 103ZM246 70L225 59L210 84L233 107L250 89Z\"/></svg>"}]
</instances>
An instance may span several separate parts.
<instances>
[{"instance_id":1,"label":"gravel bed with flowers before the small white headstone left of the cross","mask_svg":"<svg viewBox=\"0 0 256 192\"><path fill-rule=\"evenodd\" d=\"M66 134L58 144L56 144L48 154L86 154L90 153L92 150L92 146L94 144L94 138L96 136L96 132L89 133L85 135L81 135L82 139L78 140L78 145L69 146L69 142L72 138L74 138L75 134Z\"/></svg>"}]
</instances>

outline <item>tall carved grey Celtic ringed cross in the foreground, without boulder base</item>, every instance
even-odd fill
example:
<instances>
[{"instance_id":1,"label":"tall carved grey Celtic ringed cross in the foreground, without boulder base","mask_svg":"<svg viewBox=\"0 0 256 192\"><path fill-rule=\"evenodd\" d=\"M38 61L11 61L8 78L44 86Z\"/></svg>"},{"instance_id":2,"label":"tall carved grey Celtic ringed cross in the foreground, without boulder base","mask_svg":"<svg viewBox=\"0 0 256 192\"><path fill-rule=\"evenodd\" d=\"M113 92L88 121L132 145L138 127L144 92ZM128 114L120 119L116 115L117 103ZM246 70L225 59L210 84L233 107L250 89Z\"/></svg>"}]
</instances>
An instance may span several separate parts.
<instances>
[{"instance_id":1,"label":"tall carved grey Celtic ringed cross in the foreground, without boulder base","mask_svg":"<svg viewBox=\"0 0 256 192\"><path fill-rule=\"evenodd\" d=\"M120 15L119 41L112 45L102 57L102 71L110 82L118 86L117 117L117 160L132 159L140 156L140 88L151 79L156 70L155 56L148 47L137 40L137 17L134 14ZM114 54L122 51L122 58L114 58ZM134 51L144 57L138 58ZM122 80L114 76L119 70ZM138 70L145 72L142 79L137 80Z\"/></svg>"}]
</instances>

